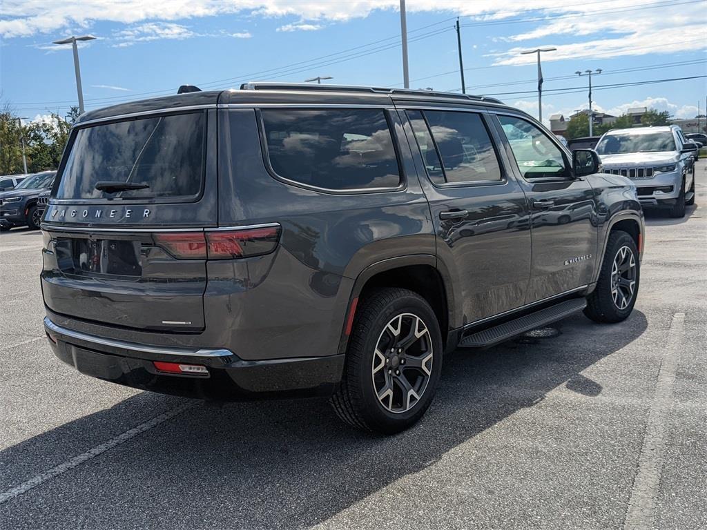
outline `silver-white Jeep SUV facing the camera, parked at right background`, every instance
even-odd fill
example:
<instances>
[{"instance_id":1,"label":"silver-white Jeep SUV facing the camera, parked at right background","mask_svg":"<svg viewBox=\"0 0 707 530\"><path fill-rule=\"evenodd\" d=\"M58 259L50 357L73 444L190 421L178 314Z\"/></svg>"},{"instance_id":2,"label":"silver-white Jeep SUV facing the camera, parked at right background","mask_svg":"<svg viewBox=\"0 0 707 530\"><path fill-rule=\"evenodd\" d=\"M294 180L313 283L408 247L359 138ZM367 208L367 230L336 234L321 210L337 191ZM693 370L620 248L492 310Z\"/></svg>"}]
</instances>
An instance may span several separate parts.
<instances>
[{"instance_id":1,"label":"silver-white Jeep SUV facing the camera, parked at right background","mask_svg":"<svg viewBox=\"0 0 707 530\"><path fill-rule=\"evenodd\" d=\"M696 145L682 136L678 126L637 127L607 131L597 153L604 172L636 182L644 208L667 208L681 218L694 204Z\"/></svg>"}]
</instances>

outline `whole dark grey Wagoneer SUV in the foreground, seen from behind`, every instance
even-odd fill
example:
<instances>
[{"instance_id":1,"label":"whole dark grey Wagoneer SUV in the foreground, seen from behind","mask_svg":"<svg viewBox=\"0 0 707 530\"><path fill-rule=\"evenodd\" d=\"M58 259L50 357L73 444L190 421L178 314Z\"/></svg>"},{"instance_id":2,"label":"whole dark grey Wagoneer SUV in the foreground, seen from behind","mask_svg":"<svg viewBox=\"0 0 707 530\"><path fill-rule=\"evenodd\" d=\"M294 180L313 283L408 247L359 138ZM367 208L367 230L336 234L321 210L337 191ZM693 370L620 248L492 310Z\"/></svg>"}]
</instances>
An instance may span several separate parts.
<instances>
[{"instance_id":1,"label":"whole dark grey Wagoneer SUV in the foreground, seen from behind","mask_svg":"<svg viewBox=\"0 0 707 530\"><path fill-rule=\"evenodd\" d=\"M253 83L95 110L42 220L45 329L83 374L418 420L445 353L629 316L643 213L498 100Z\"/></svg>"}]
</instances>

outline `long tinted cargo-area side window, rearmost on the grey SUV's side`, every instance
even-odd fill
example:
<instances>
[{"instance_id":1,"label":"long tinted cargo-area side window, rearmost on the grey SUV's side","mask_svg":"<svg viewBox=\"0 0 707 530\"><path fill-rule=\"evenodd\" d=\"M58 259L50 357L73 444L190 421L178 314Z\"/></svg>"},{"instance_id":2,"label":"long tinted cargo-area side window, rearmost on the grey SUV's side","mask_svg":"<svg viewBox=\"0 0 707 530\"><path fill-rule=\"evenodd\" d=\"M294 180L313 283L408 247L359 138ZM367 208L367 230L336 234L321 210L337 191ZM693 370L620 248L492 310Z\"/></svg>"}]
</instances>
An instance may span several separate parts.
<instances>
[{"instance_id":1,"label":"long tinted cargo-area side window, rearmost on the grey SUV's side","mask_svg":"<svg viewBox=\"0 0 707 530\"><path fill-rule=\"evenodd\" d=\"M393 138L377 109L262 110L269 162L280 177L325 189L395 188Z\"/></svg>"}]
</instances>

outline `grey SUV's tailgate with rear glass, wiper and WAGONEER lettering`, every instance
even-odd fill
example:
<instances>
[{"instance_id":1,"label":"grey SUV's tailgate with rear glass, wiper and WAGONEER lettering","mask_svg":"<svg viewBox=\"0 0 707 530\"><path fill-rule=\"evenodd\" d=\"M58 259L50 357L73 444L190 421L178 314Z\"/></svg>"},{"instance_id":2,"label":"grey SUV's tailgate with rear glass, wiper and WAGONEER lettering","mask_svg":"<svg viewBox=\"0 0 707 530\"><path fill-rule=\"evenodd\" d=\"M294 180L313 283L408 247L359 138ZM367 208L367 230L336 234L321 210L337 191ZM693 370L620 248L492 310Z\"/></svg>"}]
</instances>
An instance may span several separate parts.
<instances>
[{"instance_id":1,"label":"grey SUV's tailgate with rear glass, wiper and WAGONEER lettering","mask_svg":"<svg viewBox=\"0 0 707 530\"><path fill-rule=\"evenodd\" d=\"M74 129L42 223L49 310L132 329L203 329L215 146L216 110Z\"/></svg>"}]
</instances>

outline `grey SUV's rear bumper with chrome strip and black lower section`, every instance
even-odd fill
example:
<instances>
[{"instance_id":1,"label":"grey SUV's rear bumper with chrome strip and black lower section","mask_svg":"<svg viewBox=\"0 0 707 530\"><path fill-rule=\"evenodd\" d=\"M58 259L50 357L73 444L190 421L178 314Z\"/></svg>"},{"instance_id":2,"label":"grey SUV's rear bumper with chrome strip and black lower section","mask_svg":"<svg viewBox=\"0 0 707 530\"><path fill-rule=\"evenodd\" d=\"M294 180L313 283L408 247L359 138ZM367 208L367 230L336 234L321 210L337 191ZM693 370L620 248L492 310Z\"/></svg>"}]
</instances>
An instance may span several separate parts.
<instances>
[{"instance_id":1,"label":"grey SUV's rear bumper with chrome strip and black lower section","mask_svg":"<svg viewBox=\"0 0 707 530\"><path fill-rule=\"evenodd\" d=\"M344 355L242 360L226 349L148 346L85 334L45 318L54 355L79 372L128 387L218 401L327 396L341 380ZM153 361L205 366L206 375L160 372Z\"/></svg>"}]
</instances>

